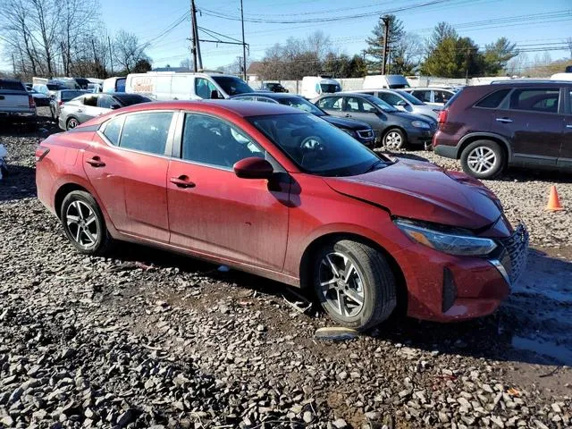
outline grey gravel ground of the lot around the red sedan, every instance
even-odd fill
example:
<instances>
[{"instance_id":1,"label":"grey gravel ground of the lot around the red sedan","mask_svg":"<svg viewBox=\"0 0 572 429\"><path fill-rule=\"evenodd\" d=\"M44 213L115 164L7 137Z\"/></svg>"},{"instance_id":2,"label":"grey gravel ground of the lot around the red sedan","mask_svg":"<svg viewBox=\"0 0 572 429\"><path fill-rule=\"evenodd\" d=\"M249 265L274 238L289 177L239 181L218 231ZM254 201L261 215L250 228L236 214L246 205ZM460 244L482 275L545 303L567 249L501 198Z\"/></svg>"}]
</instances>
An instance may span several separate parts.
<instances>
[{"instance_id":1,"label":"grey gravel ground of the lot around the red sedan","mask_svg":"<svg viewBox=\"0 0 572 429\"><path fill-rule=\"evenodd\" d=\"M495 315L333 343L282 284L135 245L74 253L35 198L44 127L0 130L0 427L572 427L570 214L543 211L552 182L572 204L569 178L487 181L542 246Z\"/></svg>"}]
</instances>

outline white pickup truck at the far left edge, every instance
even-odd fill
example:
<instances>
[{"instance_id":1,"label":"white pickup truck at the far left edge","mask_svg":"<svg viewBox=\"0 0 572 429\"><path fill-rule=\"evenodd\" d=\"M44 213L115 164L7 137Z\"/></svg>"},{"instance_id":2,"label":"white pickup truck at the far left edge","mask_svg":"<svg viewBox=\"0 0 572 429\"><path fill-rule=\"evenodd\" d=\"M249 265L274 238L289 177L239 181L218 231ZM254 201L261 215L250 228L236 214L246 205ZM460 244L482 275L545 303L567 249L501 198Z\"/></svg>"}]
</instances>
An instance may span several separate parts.
<instances>
[{"instance_id":1,"label":"white pickup truck at the far left edge","mask_svg":"<svg viewBox=\"0 0 572 429\"><path fill-rule=\"evenodd\" d=\"M36 122L34 98L20 80L0 79L0 119Z\"/></svg>"}]
</instances>

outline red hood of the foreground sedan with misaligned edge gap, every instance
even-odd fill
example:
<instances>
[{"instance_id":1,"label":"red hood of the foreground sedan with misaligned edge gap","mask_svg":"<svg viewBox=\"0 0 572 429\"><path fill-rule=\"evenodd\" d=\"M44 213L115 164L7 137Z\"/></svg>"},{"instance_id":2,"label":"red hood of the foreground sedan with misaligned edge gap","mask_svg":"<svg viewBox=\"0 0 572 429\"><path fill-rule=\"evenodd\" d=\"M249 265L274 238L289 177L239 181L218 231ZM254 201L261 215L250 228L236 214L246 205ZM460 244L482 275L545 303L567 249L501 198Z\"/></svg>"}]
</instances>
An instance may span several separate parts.
<instances>
[{"instance_id":1,"label":"red hood of the foreground sedan with misaligned edge gap","mask_svg":"<svg viewBox=\"0 0 572 429\"><path fill-rule=\"evenodd\" d=\"M480 181L431 163L400 159L374 172L324 181L399 217L469 230L491 226L501 217L500 201Z\"/></svg>"}]
</instances>

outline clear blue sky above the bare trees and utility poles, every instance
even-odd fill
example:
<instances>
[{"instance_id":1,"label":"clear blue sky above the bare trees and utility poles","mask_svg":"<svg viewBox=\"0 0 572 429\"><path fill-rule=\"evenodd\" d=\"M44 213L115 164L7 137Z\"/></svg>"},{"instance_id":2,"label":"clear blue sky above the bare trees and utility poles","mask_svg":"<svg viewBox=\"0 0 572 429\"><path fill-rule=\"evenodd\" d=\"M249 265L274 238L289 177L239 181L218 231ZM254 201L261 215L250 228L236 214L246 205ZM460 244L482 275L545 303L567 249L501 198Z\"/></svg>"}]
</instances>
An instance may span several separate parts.
<instances>
[{"instance_id":1,"label":"clear blue sky above the bare trees and utility poles","mask_svg":"<svg viewBox=\"0 0 572 429\"><path fill-rule=\"evenodd\" d=\"M365 39L371 34L380 13L400 7L417 5L395 13L407 31L421 38L430 35L439 21L448 21L462 36L473 38L484 46L505 36L534 55L534 49L550 47L551 58L568 56L562 42L572 37L572 4L570 0L445 0L438 4L419 6L431 0L243 0L246 19L291 21L307 18L327 20L332 17L365 14L347 21L318 21L313 23L255 23L245 22L246 41L250 44L249 57L260 59L265 48L283 42L290 36L302 38L316 29L330 36L332 46L353 55L366 48ZM189 10L189 0L99 0L101 15L113 34L118 29L135 33L140 41L151 41L147 54L155 66L169 63L177 66L189 57L190 21L182 21L163 37L161 34ZM196 0L197 7L240 16L240 0ZM552 13L559 13L557 15ZM498 21L497 21L498 20ZM510 21L506 21L510 20ZM240 21L230 21L205 13L198 14L198 25L240 38ZM201 38L210 38L205 33ZM559 45L560 44L560 45ZM201 44L205 68L215 68L235 61L242 54L240 46ZM6 67L4 67L6 68Z\"/></svg>"}]
</instances>

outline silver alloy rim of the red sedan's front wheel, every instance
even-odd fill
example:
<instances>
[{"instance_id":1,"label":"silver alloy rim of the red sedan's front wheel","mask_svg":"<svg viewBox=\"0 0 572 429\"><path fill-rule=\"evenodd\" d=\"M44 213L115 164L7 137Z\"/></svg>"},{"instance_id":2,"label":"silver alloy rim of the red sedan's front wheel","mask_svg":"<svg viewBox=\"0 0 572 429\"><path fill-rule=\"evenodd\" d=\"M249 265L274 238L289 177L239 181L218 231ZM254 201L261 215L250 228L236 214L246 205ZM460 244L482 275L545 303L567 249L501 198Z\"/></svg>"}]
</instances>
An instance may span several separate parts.
<instances>
[{"instance_id":1,"label":"silver alloy rim of the red sedan's front wheel","mask_svg":"<svg viewBox=\"0 0 572 429\"><path fill-rule=\"evenodd\" d=\"M320 291L325 304L343 317L358 315L364 307L363 276L349 257L328 253L319 267Z\"/></svg>"}]
</instances>

